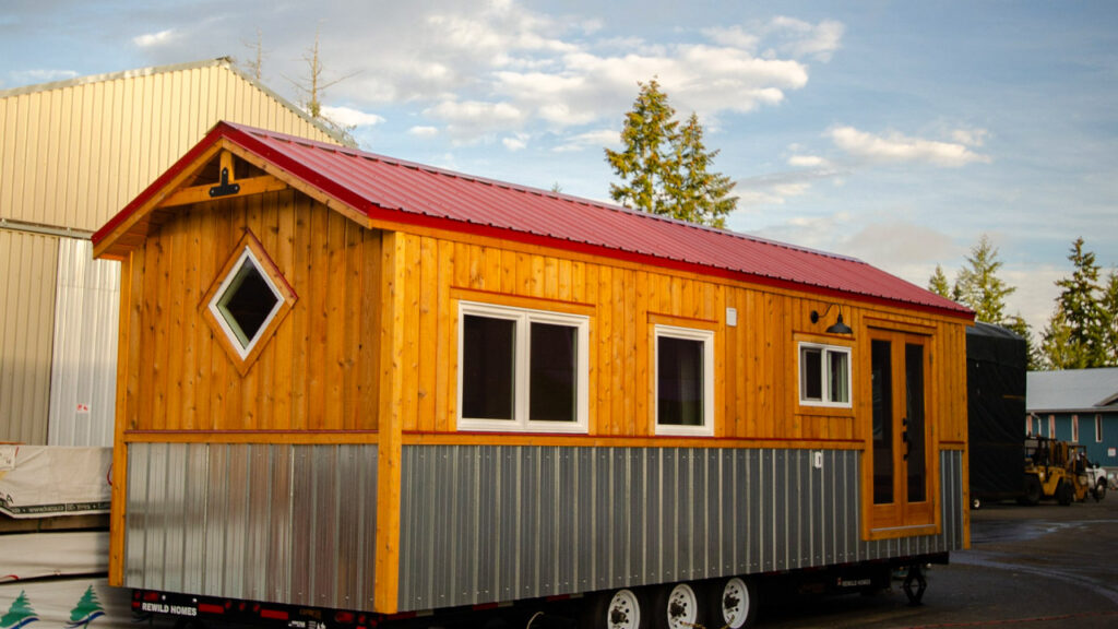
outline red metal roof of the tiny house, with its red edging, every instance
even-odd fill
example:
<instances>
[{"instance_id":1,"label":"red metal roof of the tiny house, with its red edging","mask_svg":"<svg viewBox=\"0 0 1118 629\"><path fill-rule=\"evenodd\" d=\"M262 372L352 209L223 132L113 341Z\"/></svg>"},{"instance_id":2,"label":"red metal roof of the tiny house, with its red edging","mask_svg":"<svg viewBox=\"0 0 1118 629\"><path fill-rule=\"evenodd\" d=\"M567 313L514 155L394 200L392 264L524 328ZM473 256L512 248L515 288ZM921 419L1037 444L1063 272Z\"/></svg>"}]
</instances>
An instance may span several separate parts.
<instances>
[{"instance_id":1,"label":"red metal roof of the tiny house, with its red edging","mask_svg":"<svg viewBox=\"0 0 1118 629\"><path fill-rule=\"evenodd\" d=\"M222 122L93 236L101 242L221 139L372 219L427 225L822 295L974 313L859 260L713 229L625 207Z\"/></svg>"}]
</instances>

